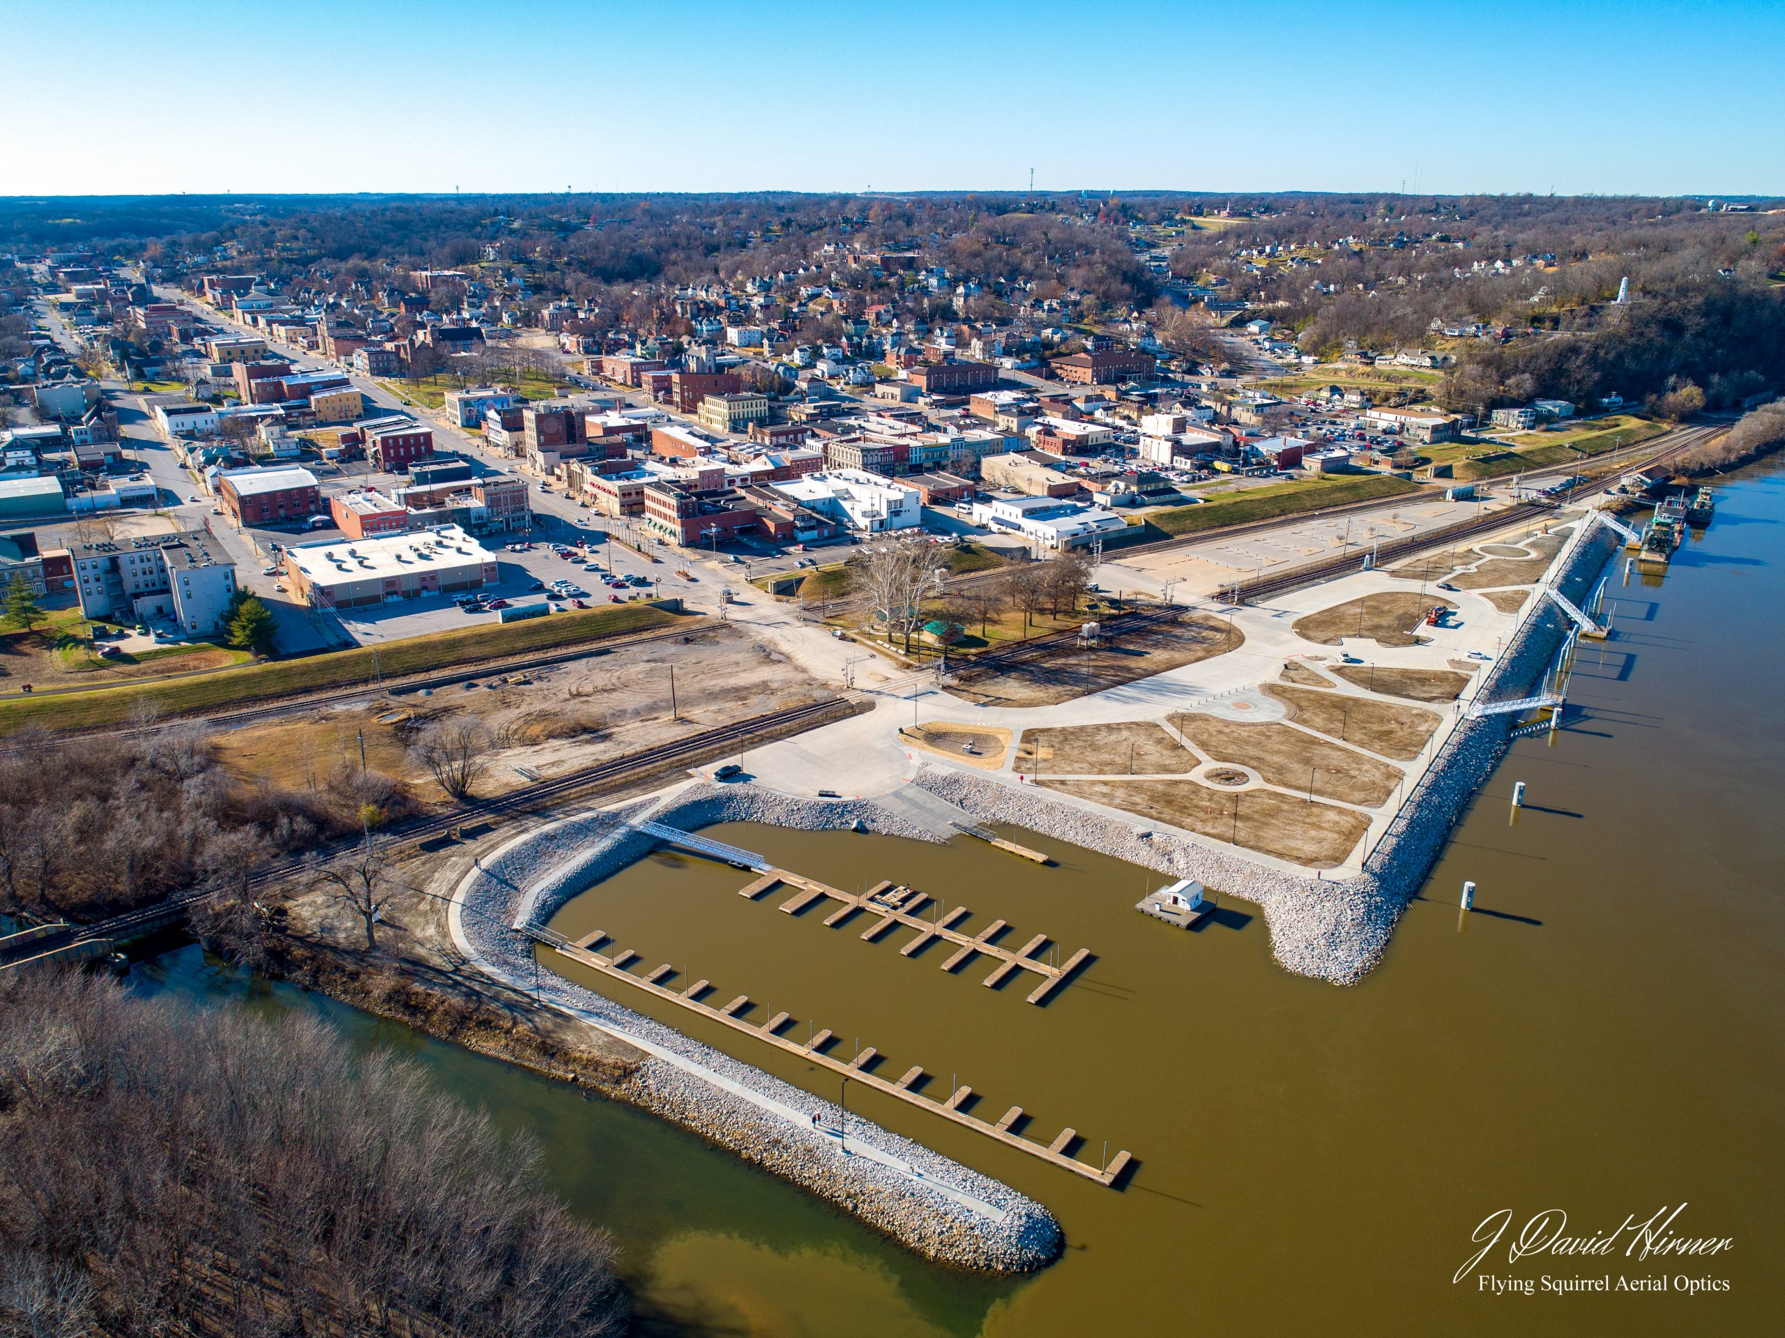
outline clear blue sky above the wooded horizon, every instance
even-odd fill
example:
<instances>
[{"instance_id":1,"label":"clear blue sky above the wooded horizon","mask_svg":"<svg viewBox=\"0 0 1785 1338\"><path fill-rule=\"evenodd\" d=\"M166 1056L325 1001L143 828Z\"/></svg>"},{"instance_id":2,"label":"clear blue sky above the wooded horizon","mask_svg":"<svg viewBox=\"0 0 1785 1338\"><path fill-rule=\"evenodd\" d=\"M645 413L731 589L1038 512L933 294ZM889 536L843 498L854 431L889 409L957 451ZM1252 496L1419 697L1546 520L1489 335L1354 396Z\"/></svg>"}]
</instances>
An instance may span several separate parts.
<instances>
[{"instance_id":1,"label":"clear blue sky above the wooded horizon","mask_svg":"<svg viewBox=\"0 0 1785 1338\"><path fill-rule=\"evenodd\" d=\"M1781 0L0 0L0 194L1785 194Z\"/></svg>"}]
</instances>

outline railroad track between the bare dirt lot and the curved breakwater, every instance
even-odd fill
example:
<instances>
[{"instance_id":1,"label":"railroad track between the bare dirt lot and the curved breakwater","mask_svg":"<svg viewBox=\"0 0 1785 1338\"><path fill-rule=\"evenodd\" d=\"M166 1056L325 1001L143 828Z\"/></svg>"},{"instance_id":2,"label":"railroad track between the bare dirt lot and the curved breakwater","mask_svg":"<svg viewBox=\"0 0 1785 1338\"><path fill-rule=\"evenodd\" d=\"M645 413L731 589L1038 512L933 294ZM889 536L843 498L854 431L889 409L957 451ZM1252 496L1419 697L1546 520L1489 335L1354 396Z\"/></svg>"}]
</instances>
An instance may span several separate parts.
<instances>
[{"instance_id":1,"label":"railroad track between the bare dirt lot and the curved breakwater","mask_svg":"<svg viewBox=\"0 0 1785 1338\"><path fill-rule=\"evenodd\" d=\"M789 706L787 710L751 715L744 721L721 724L714 730L703 730L700 733L687 735L685 739L671 740L644 753L628 753L625 756L609 758L607 762L596 762L589 767L566 772L564 776L537 781L523 790L514 790L512 794L503 794L493 799L477 799L446 812L423 814L405 822L393 824L382 835L389 840L403 842L430 840L452 831L453 828L468 826L484 819L502 819L525 814L582 790L614 789L625 781L668 771L677 765L693 765L716 751L755 746L768 740L771 735L780 737L787 731L798 733L810 730L818 724L828 723L830 719L841 719L846 714L853 714L857 698L828 698L825 701L810 701L803 706ZM307 869L314 869L318 865L318 855L321 855L321 862L327 862L357 847L359 842L341 842L320 853L312 851L302 856L286 856L250 872L246 883L248 887L268 887L271 883L278 883L280 880L302 874ZM66 933L37 938L14 951L12 960L16 962L25 956L37 956L39 953L50 953L93 940L121 942L139 938L155 929L178 924L195 904L202 903L209 896L211 892L205 888L187 888L184 892L175 892L152 906L139 906L120 915L109 915L104 921L93 921L91 924L71 924ZM5 965L7 962L0 960L0 969Z\"/></svg>"}]
</instances>

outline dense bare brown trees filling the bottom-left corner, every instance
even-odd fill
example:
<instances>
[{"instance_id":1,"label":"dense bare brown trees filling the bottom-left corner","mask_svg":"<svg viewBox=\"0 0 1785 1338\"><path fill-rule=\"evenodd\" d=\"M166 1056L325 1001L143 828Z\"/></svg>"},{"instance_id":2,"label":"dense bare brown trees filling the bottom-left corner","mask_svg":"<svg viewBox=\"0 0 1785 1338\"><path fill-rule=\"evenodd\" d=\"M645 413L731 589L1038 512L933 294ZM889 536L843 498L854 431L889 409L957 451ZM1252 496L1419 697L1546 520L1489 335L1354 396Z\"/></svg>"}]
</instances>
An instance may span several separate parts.
<instances>
[{"instance_id":1,"label":"dense bare brown trees filling the bottom-left corner","mask_svg":"<svg viewBox=\"0 0 1785 1338\"><path fill-rule=\"evenodd\" d=\"M0 1333L603 1336L537 1151L314 1020L0 978Z\"/></svg>"}]
</instances>

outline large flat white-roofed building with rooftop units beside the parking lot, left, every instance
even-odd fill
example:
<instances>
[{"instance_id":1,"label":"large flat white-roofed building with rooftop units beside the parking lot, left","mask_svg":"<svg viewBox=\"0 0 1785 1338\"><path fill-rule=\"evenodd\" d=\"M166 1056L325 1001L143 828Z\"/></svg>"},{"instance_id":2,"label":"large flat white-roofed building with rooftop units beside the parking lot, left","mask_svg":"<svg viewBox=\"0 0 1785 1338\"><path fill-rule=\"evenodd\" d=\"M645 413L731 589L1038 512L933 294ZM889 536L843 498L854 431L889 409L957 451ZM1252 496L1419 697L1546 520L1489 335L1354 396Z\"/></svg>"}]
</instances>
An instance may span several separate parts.
<instances>
[{"instance_id":1,"label":"large flat white-roofed building with rooftop units beside the parking lot, left","mask_svg":"<svg viewBox=\"0 0 1785 1338\"><path fill-rule=\"evenodd\" d=\"M496 555L457 524L380 539L327 539L286 549L286 574L316 608L421 599L494 585Z\"/></svg>"}]
</instances>

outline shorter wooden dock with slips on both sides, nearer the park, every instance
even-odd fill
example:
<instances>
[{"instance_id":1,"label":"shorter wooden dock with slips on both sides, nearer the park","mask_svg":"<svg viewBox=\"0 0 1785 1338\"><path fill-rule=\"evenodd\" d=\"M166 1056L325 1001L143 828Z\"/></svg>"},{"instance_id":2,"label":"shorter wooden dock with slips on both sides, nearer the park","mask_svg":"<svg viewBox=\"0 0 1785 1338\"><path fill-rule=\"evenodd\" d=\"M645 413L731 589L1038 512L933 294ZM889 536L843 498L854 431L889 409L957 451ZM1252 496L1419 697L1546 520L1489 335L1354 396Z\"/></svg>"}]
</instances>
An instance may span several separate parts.
<instances>
[{"instance_id":1,"label":"shorter wooden dock with slips on both sides, nearer the park","mask_svg":"<svg viewBox=\"0 0 1785 1338\"><path fill-rule=\"evenodd\" d=\"M953 974L959 967L964 967L975 956L994 958L998 965L984 981L987 988L998 988L1019 970L1032 970L1041 976L1041 983L1030 990L1026 997L1032 1004L1044 1004L1055 990L1064 987L1073 974L1091 960L1091 949L1080 947L1060 965L1042 962L1034 954L1042 944L1048 942L1048 935L1044 933L1037 933L1014 953L1009 947L1000 947L994 940L1010 928L1005 921L992 921L978 933L967 935L955 928L973 913L966 906L955 906L950 912L942 912L937 904L935 919L926 921L919 915L919 912L932 903L930 894L894 885L891 880L876 883L866 892L855 894L819 883L816 878L789 872L787 869L769 869L748 887L739 888L737 896L746 901L759 901L775 888L782 887L793 888L793 896L780 903L780 910L787 915L798 915L825 899L839 903L837 910L825 917L825 926L830 929L839 928L857 912L875 915L875 922L869 924L860 935L862 940L869 944L878 942L882 935L889 933L896 926L916 929L917 937L900 947L900 956L917 956L917 953L937 940L953 944L955 953L942 962L942 970L950 974Z\"/></svg>"}]
</instances>

